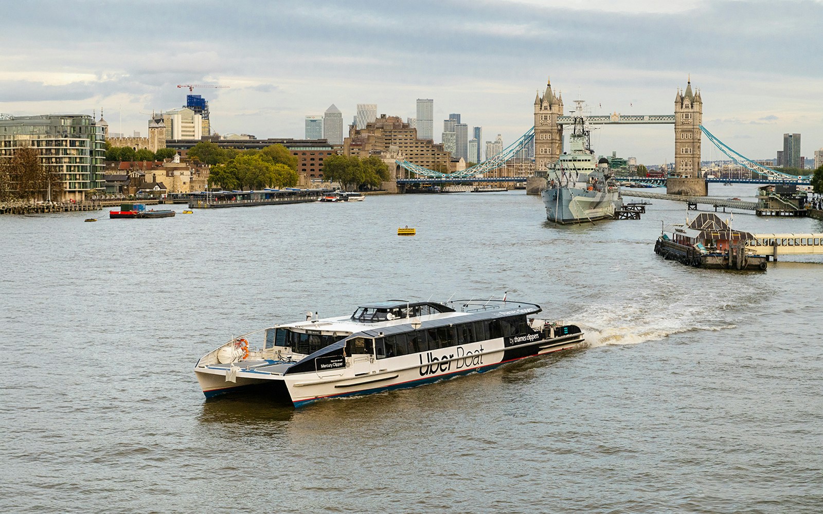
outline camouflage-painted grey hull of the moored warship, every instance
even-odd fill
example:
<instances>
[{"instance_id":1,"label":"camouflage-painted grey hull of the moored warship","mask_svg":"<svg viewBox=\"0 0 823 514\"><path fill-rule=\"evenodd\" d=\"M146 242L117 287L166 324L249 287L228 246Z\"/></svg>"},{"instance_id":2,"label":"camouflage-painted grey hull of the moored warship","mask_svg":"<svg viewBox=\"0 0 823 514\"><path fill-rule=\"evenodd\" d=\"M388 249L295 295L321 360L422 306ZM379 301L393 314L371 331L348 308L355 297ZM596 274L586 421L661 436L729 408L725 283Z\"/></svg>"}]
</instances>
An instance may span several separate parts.
<instances>
[{"instance_id":1,"label":"camouflage-painted grey hull of the moored warship","mask_svg":"<svg viewBox=\"0 0 823 514\"><path fill-rule=\"evenodd\" d=\"M612 220L623 206L620 191L588 191L579 188L553 188L541 192L546 220L565 225L595 220Z\"/></svg>"}]
</instances>

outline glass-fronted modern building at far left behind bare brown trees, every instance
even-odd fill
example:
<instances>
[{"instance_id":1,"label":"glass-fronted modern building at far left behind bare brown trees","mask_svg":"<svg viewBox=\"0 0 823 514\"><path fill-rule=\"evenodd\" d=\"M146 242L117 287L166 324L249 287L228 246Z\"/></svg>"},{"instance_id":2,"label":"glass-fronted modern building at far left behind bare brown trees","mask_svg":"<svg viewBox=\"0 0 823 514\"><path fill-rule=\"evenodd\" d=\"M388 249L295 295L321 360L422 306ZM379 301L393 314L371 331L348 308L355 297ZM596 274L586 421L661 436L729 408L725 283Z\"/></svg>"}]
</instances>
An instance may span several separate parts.
<instances>
[{"instance_id":1,"label":"glass-fronted modern building at far left behind bare brown trees","mask_svg":"<svg viewBox=\"0 0 823 514\"><path fill-rule=\"evenodd\" d=\"M11 159L25 146L37 150L40 164L63 183L63 197L51 200L82 201L86 194L105 188L103 127L88 114L0 118L0 159Z\"/></svg>"}]
</instances>

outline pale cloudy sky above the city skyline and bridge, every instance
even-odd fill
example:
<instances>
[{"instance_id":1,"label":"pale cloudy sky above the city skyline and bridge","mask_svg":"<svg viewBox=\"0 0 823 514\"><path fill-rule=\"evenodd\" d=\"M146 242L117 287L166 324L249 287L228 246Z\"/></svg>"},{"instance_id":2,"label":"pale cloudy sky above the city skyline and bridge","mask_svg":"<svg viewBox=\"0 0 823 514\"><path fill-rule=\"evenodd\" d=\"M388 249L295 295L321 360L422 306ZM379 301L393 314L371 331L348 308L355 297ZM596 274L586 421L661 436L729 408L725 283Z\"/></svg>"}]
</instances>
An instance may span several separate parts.
<instances>
[{"instance_id":1,"label":"pale cloudy sky above the city skyline and bridge","mask_svg":"<svg viewBox=\"0 0 823 514\"><path fill-rule=\"evenodd\" d=\"M221 84L212 127L304 136L304 117L356 104L415 117L435 100L501 133L532 125L546 77L569 110L673 113L699 88L704 126L752 159L784 132L802 154L823 146L823 2L703 0L26 0L3 2L0 113L92 113L112 132L146 135L146 113L179 107L178 84ZM122 121L121 121L122 120ZM599 154L671 162L672 126L602 127ZM704 159L723 156L704 140Z\"/></svg>"}]
</instances>

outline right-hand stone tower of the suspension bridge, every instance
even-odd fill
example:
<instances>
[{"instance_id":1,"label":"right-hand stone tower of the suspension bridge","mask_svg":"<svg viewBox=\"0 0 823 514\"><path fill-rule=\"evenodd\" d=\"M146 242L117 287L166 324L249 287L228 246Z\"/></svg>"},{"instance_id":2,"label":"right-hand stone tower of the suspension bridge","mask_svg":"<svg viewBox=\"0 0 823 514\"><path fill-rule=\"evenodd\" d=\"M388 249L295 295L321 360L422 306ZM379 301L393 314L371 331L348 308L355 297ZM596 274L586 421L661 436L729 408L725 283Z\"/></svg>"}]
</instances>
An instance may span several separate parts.
<instances>
[{"instance_id":1,"label":"right-hand stone tower of the suspension bridge","mask_svg":"<svg viewBox=\"0 0 823 514\"><path fill-rule=\"evenodd\" d=\"M700 91L691 92L691 77L686 90L677 89L674 99L674 175L700 177L700 125L703 100Z\"/></svg>"}]
</instances>

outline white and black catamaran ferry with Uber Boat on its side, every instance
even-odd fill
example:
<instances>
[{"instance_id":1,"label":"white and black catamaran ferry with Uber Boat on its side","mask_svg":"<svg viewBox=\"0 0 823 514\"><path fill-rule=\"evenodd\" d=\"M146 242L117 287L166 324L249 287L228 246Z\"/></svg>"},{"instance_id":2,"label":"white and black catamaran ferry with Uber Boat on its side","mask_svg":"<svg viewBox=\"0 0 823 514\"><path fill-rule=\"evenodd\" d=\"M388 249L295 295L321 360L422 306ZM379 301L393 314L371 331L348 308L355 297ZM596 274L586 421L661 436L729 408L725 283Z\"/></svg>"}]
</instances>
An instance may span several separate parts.
<instances>
[{"instance_id":1,"label":"white and black catamaran ferry with Uber Boat on its side","mask_svg":"<svg viewBox=\"0 0 823 514\"><path fill-rule=\"evenodd\" d=\"M532 317L541 311L503 299L388 300L322 319L309 312L233 338L194 372L207 397L267 387L295 406L416 387L584 342L578 326Z\"/></svg>"}]
</instances>

